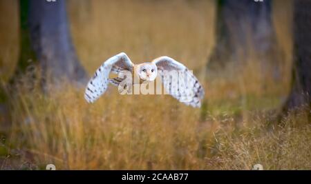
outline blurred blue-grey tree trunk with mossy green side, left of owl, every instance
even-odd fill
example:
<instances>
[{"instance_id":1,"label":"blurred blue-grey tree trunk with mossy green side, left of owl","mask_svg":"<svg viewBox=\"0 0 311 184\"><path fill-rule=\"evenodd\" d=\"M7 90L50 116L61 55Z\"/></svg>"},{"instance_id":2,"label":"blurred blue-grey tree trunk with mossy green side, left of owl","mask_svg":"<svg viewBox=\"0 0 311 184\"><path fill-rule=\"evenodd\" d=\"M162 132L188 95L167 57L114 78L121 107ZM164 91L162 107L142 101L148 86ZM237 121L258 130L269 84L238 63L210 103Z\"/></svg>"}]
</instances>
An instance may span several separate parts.
<instances>
[{"instance_id":1,"label":"blurred blue-grey tree trunk with mossy green side, left of owl","mask_svg":"<svg viewBox=\"0 0 311 184\"><path fill-rule=\"evenodd\" d=\"M17 72L25 72L30 61L38 61L44 77L85 82L86 72L70 38L66 1L20 0L20 15Z\"/></svg>"}]
</instances>

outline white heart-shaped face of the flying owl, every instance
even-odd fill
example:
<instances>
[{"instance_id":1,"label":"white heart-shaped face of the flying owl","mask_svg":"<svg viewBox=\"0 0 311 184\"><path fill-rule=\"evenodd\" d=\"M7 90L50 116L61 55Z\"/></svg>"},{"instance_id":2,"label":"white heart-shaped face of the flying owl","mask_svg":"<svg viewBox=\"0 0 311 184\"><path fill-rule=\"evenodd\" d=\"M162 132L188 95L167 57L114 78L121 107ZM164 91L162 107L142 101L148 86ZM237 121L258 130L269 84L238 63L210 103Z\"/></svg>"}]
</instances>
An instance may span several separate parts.
<instances>
[{"instance_id":1,"label":"white heart-shaped face of the flying owl","mask_svg":"<svg viewBox=\"0 0 311 184\"><path fill-rule=\"evenodd\" d=\"M154 81L158 75L157 65L154 63L142 63L139 71L140 79Z\"/></svg>"}]
</instances>

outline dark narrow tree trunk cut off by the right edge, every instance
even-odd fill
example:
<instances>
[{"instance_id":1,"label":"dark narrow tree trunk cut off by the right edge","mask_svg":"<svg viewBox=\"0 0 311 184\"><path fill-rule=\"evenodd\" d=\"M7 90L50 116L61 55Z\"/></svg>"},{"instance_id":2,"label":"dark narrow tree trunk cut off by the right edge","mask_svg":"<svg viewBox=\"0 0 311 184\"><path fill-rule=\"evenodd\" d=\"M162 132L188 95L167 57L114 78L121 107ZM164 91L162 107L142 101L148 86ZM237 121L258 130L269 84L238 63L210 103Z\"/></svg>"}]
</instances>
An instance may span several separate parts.
<instances>
[{"instance_id":1,"label":"dark narrow tree trunk cut off by the right edge","mask_svg":"<svg viewBox=\"0 0 311 184\"><path fill-rule=\"evenodd\" d=\"M311 0L294 1L294 63L292 91L284 111L311 108ZM309 112L310 113L310 112ZM310 113L311 114L311 113ZM309 117L310 117L309 114Z\"/></svg>"}]
</instances>

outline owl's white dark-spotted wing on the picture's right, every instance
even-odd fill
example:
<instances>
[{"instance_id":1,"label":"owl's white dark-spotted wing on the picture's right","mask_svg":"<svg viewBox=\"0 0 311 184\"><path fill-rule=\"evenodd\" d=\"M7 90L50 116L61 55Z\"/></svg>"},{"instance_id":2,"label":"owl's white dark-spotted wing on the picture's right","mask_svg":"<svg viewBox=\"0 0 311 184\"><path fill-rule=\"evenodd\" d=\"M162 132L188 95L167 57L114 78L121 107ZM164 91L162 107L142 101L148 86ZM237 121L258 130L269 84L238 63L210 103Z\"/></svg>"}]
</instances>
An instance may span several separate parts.
<instances>
[{"instance_id":1,"label":"owl's white dark-spotted wing on the picture's right","mask_svg":"<svg viewBox=\"0 0 311 184\"><path fill-rule=\"evenodd\" d=\"M185 65L170 57L159 57L152 62L157 65L158 75L167 93L186 105L200 108L204 90Z\"/></svg>"}]
</instances>

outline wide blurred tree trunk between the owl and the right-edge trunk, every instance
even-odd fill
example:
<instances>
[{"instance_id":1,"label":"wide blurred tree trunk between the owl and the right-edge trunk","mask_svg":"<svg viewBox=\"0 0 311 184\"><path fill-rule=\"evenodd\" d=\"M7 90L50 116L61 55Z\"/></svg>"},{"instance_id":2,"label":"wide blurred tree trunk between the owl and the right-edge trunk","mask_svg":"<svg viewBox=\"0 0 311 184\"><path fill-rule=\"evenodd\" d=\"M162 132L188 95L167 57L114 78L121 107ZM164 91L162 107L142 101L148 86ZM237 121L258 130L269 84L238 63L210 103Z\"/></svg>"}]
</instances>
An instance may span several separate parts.
<instances>
[{"instance_id":1,"label":"wide blurred tree trunk between the owl and the right-edge trunk","mask_svg":"<svg viewBox=\"0 0 311 184\"><path fill-rule=\"evenodd\" d=\"M267 60L276 42L271 17L272 1L216 2L216 45L208 68L222 68L229 61L240 62L247 58L249 52L256 52L256 57Z\"/></svg>"}]
</instances>

